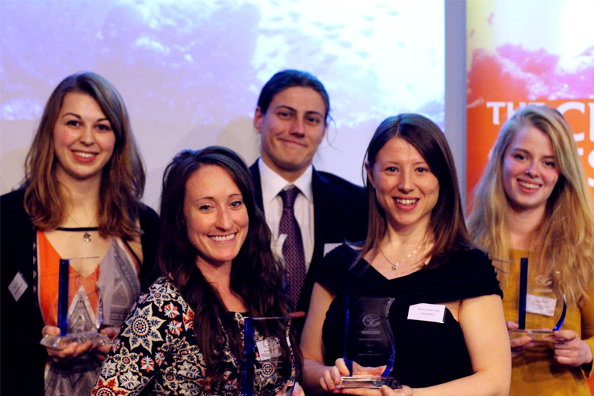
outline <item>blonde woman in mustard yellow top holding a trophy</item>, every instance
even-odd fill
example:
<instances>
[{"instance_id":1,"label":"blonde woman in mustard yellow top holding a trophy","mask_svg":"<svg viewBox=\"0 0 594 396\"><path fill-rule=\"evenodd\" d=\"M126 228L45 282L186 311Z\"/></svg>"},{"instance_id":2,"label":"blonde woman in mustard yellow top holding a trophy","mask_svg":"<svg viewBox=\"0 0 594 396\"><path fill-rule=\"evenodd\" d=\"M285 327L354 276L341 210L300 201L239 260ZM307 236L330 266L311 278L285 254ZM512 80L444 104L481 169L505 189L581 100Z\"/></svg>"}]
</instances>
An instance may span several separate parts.
<instances>
[{"instance_id":1,"label":"blonde woman in mustard yellow top holding a trophy","mask_svg":"<svg viewBox=\"0 0 594 396\"><path fill-rule=\"evenodd\" d=\"M521 257L528 257L529 268L556 285L559 298L565 294L567 316L552 343L532 342L528 336L511 341L510 395L590 395L593 213L565 119L544 106L518 110L501 128L477 186L468 219L470 235L499 268L508 329L518 326ZM537 324L552 329L556 320L541 315Z\"/></svg>"}]
</instances>

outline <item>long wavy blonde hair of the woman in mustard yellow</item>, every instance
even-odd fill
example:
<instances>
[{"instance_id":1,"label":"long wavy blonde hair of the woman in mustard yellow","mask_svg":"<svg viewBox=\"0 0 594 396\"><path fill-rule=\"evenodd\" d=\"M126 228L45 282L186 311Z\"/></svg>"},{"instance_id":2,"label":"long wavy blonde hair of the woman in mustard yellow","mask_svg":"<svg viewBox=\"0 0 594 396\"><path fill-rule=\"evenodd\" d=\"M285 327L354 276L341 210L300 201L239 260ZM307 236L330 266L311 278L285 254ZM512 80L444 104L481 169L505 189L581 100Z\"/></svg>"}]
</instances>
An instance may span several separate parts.
<instances>
[{"instance_id":1,"label":"long wavy blonde hair of the woman in mustard yellow","mask_svg":"<svg viewBox=\"0 0 594 396\"><path fill-rule=\"evenodd\" d=\"M574 135L557 110L529 105L517 110L501 127L487 169L475 189L473 211L468 218L470 237L492 258L501 260L496 267L505 283L513 257L506 225L509 204L503 190L503 157L515 133L524 126L534 126L550 138L560 173L529 250L541 270L557 274L560 291L577 304L587 298L593 281L594 209Z\"/></svg>"}]
</instances>

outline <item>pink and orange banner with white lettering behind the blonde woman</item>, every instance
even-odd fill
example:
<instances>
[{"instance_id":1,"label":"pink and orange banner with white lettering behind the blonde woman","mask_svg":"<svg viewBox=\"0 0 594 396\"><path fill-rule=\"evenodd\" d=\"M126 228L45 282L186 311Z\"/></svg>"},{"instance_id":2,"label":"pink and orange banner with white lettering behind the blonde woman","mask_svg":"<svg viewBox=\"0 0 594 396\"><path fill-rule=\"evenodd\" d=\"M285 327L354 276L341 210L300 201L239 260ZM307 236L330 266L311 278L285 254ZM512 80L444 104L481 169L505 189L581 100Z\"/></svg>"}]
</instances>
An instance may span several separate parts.
<instances>
[{"instance_id":1,"label":"pink and orange banner with white lettering behind the blonde woman","mask_svg":"<svg viewBox=\"0 0 594 396\"><path fill-rule=\"evenodd\" d=\"M565 116L594 194L594 1L574 3L467 2L468 202L499 129L529 103Z\"/></svg>"}]
</instances>

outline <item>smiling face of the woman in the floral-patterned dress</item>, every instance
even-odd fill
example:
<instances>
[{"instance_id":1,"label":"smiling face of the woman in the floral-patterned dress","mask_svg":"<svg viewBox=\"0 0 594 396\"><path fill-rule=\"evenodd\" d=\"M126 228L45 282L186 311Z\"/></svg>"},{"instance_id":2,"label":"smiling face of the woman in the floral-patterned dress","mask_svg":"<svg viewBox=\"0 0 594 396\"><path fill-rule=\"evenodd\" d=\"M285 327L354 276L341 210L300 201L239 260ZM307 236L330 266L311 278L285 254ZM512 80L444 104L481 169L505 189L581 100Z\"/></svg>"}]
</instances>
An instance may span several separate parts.
<instances>
[{"instance_id":1,"label":"smiling face of the woman in the floral-patterned dress","mask_svg":"<svg viewBox=\"0 0 594 396\"><path fill-rule=\"evenodd\" d=\"M225 169L204 165L187 179L183 214L197 265L231 265L247 236L249 217L242 192Z\"/></svg>"}]
</instances>

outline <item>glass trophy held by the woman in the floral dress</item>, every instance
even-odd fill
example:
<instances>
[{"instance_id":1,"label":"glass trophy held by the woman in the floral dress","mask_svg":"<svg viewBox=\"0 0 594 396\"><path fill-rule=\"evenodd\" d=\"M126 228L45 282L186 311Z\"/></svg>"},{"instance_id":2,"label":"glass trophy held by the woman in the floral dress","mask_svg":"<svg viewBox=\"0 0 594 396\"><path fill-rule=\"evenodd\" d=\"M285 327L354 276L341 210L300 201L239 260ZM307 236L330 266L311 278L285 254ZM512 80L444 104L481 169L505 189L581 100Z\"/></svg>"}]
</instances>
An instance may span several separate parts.
<instances>
[{"instance_id":1,"label":"glass trophy held by the woman in the floral dress","mask_svg":"<svg viewBox=\"0 0 594 396\"><path fill-rule=\"evenodd\" d=\"M245 319L242 395L291 395L296 365L290 330L290 317Z\"/></svg>"}]
</instances>

